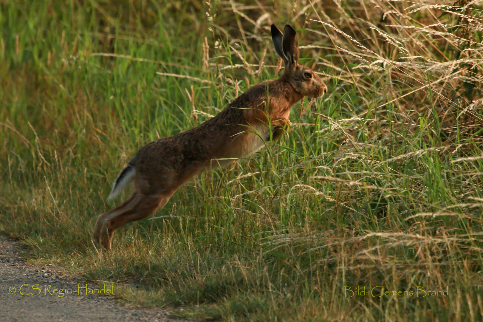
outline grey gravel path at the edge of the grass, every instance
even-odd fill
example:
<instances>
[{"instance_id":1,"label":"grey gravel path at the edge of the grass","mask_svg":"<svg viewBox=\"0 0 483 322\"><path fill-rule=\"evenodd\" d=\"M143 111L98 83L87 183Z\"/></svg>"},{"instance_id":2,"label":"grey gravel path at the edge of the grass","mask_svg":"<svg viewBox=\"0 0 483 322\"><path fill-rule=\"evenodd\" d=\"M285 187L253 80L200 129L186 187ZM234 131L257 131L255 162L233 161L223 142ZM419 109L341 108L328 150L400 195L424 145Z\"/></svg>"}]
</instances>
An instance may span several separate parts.
<instances>
[{"instance_id":1,"label":"grey gravel path at the edge of the grass","mask_svg":"<svg viewBox=\"0 0 483 322\"><path fill-rule=\"evenodd\" d=\"M171 317L167 309L129 308L108 296L86 294L79 289L85 282L60 276L53 266L28 265L18 257L19 250L14 239L0 236L0 322L186 321ZM20 294L23 284L29 284L22 287L25 295ZM87 284L89 288L94 285ZM72 291L59 296L60 289Z\"/></svg>"}]
</instances>

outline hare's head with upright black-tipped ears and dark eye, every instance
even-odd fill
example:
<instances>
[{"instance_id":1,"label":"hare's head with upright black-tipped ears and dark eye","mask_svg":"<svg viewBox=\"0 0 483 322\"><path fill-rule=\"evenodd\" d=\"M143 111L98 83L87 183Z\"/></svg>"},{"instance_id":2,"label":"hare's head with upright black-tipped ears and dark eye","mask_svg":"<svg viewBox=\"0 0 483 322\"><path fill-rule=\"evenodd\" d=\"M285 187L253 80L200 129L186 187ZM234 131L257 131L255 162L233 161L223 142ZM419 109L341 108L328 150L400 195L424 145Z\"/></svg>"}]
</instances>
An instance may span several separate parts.
<instances>
[{"instance_id":1,"label":"hare's head with upright black-tipped ears and dark eye","mask_svg":"<svg viewBox=\"0 0 483 322\"><path fill-rule=\"evenodd\" d=\"M277 55L284 60L285 70L281 78L291 84L303 96L318 98L327 93L327 86L310 68L298 64L297 32L285 25L284 33L271 25L273 46Z\"/></svg>"}]
</instances>

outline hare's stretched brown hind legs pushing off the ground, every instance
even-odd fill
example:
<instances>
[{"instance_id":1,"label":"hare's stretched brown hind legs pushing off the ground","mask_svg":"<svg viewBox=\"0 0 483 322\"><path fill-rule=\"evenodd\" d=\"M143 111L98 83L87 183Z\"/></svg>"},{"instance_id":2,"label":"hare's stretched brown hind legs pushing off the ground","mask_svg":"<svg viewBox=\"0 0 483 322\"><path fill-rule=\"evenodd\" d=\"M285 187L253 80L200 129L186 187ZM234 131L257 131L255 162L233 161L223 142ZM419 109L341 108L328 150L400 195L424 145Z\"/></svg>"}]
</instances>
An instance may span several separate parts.
<instances>
[{"instance_id":1,"label":"hare's stretched brown hind legs pushing off the ground","mask_svg":"<svg viewBox=\"0 0 483 322\"><path fill-rule=\"evenodd\" d=\"M173 193L174 191L169 195L143 195L134 191L122 205L99 216L94 228L94 239L106 250L110 250L111 239L117 228L146 218L156 209L164 207Z\"/></svg>"}]
</instances>

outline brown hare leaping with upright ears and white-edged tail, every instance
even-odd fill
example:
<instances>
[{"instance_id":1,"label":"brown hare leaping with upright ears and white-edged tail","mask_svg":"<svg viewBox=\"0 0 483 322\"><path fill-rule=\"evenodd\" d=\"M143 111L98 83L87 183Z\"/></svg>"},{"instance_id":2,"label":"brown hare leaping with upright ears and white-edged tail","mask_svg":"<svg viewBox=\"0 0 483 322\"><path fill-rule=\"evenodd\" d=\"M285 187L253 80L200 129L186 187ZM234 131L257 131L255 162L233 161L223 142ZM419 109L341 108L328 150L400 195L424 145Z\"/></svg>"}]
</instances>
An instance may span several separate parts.
<instances>
[{"instance_id":1,"label":"brown hare leaping with upright ears and white-edged tail","mask_svg":"<svg viewBox=\"0 0 483 322\"><path fill-rule=\"evenodd\" d=\"M166 205L174 192L206 168L222 167L247 157L276 140L290 126L292 105L304 96L317 98L327 86L310 69L298 64L297 33L271 25L273 46L284 61L279 79L256 84L223 111L186 132L152 141L129 161L113 184L109 199L129 182L134 191L120 206L97 219L94 240L111 249L114 231L146 218Z\"/></svg>"}]
</instances>

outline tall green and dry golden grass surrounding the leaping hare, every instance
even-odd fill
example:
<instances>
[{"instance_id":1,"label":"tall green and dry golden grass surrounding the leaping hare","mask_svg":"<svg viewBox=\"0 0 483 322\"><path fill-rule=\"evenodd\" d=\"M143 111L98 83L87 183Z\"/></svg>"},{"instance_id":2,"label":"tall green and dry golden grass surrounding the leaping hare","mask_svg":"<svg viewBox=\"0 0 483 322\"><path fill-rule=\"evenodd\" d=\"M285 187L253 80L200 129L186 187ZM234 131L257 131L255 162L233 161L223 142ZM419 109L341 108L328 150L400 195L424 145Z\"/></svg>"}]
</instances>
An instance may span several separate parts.
<instances>
[{"instance_id":1,"label":"tall green and dry golden grass surrounding the leaping hare","mask_svg":"<svg viewBox=\"0 0 483 322\"><path fill-rule=\"evenodd\" d=\"M194 319L481 320L482 61L464 51L480 48L481 32L465 33L465 18L440 9L382 24L367 2L336 2L297 17L299 45L390 62L302 49L328 95L304 114L308 100L297 104L293 130L275 144L200 175L154 218L119 229L106 253L92 229L114 206L105 199L121 169L150 140L207 120L193 105L214 115L235 82L241 93L277 77L270 25L255 30L214 1L1 1L0 232L28 246L31 263L117 283L121 302ZM307 4L238 11L255 21L267 11L281 27ZM317 15L369 51L308 20ZM438 38L384 26L435 21L459 28ZM404 50L369 25L422 58L399 59ZM250 73L265 48L265 67ZM237 64L245 68L224 69ZM414 294L345 297L357 286ZM417 297L417 287L448 294Z\"/></svg>"}]
</instances>

